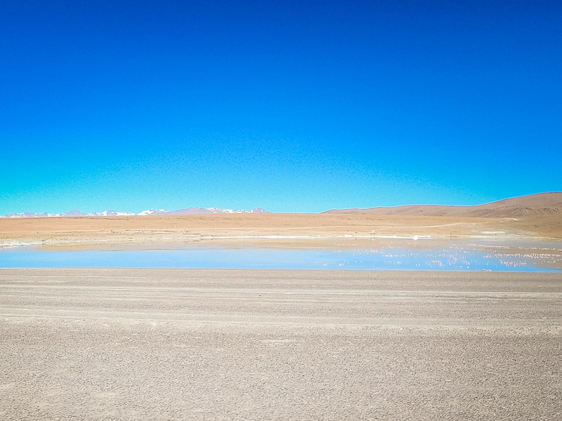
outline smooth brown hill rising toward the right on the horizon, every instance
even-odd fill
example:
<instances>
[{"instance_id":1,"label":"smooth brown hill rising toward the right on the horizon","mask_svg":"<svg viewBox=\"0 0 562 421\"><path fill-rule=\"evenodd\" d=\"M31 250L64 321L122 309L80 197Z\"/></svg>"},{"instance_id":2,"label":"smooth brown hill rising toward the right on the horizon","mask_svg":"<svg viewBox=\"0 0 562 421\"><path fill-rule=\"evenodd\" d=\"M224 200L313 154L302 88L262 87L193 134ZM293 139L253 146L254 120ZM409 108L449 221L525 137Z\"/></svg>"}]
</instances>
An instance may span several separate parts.
<instances>
[{"instance_id":1,"label":"smooth brown hill rising toward the right on the horizon","mask_svg":"<svg viewBox=\"0 0 562 421\"><path fill-rule=\"evenodd\" d=\"M562 192L531 194L477 206L410 205L367 209L332 209L325 213L362 215L426 215L481 218L524 218L533 215L560 215Z\"/></svg>"}]
</instances>

